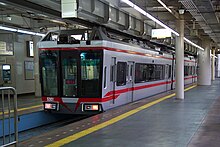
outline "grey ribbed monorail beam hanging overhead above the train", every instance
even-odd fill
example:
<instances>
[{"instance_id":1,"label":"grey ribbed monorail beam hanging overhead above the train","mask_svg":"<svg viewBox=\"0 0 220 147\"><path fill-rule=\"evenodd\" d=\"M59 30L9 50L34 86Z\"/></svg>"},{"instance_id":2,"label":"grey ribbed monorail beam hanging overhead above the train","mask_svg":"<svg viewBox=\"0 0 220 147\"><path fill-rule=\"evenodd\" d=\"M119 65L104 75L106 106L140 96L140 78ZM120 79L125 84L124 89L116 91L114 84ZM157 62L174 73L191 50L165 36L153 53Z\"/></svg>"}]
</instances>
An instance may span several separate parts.
<instances>
[{"instance_id":1,"label":"grey ribbed monorail beam hanging overhead above the train","mask_svg":"<svg viewBox=\"0 0 220 147\"><path fill-rule=\"evenodd\" d=\"M62 17L78 18L123 30L138 36L150 35L151 27L143 19L101 0L62 0Z\"/></svg>"}]
</instances>

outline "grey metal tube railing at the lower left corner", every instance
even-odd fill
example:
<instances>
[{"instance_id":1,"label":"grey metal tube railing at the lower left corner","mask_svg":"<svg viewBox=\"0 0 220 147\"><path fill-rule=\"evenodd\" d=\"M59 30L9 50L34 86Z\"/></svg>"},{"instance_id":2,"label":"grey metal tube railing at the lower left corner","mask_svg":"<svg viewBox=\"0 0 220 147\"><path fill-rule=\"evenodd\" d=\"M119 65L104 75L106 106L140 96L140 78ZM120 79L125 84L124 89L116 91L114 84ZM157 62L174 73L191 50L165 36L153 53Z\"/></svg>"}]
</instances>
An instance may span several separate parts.
<instances>
[{"instance_id":1,"label":"grey metal tube railing at the lower left corner","mask_svg":"<svg viewBox=\"0 0 220 147\"><path fill-rule=\"evenodd\" d=\"M0 87L0 95L0 147L17 146L17 93L13 87Z\"/></svg>"}]
</instances>

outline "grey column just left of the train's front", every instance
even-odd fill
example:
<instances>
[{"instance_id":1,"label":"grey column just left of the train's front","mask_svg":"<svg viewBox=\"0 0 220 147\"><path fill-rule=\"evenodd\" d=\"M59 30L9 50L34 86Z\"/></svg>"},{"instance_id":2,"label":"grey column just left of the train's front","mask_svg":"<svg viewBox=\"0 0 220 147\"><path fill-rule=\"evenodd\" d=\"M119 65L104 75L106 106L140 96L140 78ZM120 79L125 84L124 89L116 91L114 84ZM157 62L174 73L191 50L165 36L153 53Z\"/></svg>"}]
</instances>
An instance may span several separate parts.
<instances>
[{"instance_id":1,"label":"grey column just left of the train's front","mask_svg":"<svg viewBox=\"0 0 220 147\"><path fill-rule=\"evenodd\" d=\"M37 43L40 40L40 37L34 36L33 43L34 43L34 87L35 87L35 96L41 96L41 87L40 87L40 78L39 78L39 52Z\"/></svg>"}]
</instances>

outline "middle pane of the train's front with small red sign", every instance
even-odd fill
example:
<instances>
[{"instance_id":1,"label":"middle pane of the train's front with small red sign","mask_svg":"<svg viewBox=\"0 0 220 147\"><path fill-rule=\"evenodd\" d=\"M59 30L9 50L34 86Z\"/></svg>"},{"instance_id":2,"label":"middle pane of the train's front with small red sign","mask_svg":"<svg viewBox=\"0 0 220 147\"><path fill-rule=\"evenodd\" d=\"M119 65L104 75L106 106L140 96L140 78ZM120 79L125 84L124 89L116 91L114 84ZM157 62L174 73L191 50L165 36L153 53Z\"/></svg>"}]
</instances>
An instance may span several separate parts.
<instances>
[{"instance_id":1,"label":"middle pane of the train's front with small red sign","mask_svg":"<svg viewBox=\"0 0 220 147\"><path fill-rule=\"evenodd\" d=\"M77 95L77 61L73 58L62 60L63 96Z\"/></svg>"}]
</instances>

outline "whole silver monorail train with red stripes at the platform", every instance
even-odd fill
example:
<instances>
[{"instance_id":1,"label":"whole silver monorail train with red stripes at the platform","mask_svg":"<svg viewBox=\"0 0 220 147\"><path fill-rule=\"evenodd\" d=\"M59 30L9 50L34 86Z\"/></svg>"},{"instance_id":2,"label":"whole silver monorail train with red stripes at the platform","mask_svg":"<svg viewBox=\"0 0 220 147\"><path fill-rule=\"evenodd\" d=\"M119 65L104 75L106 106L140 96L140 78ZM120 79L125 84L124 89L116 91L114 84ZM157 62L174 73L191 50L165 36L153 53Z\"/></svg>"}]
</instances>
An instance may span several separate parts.
<instances>
[{"instance_id":1,"label":"whole silver monorail train with red stripes at the platform","mask_svg":"<svg viewBox=\"0 0 220 147\"><path fill-rule=\"evenodd\" d=\"M174 55L87 35L50 32L39 42L44 110L93 114L175 88ZM196 82L196 60L184 61L185 84Z\"/></svg>"}]
</instances>

